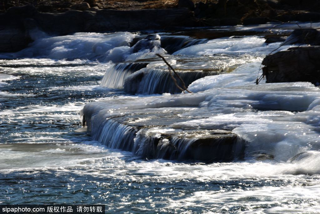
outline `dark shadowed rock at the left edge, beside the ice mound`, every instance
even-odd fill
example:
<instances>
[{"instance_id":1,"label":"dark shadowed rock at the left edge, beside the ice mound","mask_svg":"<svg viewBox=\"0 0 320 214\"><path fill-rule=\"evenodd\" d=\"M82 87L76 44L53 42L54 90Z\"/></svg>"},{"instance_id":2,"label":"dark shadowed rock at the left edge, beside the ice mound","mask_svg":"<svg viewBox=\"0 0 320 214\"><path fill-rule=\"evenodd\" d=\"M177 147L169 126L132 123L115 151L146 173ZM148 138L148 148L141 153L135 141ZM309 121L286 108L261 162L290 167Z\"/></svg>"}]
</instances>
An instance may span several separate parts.
<instances>
[{"instance_id":1,"label":"dark shadowed rock at the left edge, beside the ice mound","mask_svg":"<svg viewBox=\"0 0 320 214\"><path fill-rule=\"evenodd\" d=\"M31 41L21 29L0 30L0 38L0 52L20 51Z\"/></svg>"}]
</instances>

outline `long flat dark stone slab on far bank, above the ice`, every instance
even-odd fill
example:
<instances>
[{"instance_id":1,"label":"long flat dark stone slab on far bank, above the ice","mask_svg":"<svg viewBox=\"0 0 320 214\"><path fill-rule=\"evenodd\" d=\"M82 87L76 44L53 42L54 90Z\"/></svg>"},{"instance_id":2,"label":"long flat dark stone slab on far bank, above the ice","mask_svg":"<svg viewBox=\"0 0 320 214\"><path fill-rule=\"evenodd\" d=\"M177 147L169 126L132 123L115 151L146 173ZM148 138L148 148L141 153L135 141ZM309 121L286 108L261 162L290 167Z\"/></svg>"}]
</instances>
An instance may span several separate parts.
<instances>
[{"instance_id":1,"label":"long flat dark stone slab on far bank, above the ice","mask_svg":"<svg viewBox=\"0 0 320 214\"><path fill-rule=\"evenodd\" d=\"M162 29L196 25L192 12L187 8L131 11L71 10L65 13L39 13L35 20L45 32L52 32L57 35L75 32Z\"/></svg>"}]
</instances>

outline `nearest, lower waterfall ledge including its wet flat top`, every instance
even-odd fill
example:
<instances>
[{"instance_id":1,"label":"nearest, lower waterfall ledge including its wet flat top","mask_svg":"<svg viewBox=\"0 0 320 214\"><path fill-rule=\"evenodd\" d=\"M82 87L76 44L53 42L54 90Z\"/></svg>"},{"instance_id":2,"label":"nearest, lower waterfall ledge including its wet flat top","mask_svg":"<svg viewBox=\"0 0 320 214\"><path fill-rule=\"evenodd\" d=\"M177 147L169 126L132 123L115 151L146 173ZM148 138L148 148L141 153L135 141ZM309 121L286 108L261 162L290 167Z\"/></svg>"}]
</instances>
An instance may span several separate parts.
<instances>
[{"instance_id":1,"label":"nearest, lower waterfall ledge including its wet flat top","mask_svg":"<svg viewBox=\"0 0 320 214\"><path fill-rule=\"evenodd\" d=\"M172 124L195 119L180 114L205 98L194 96L185 102L182 96L173 96L177 96L175 104L171 96L165 101L145 97L140 102L135 98L93 102L81 113L94 140L141 158L213 162L244 157L245 141L231 130L172 128Z\"/></svg>"}]
</instances>

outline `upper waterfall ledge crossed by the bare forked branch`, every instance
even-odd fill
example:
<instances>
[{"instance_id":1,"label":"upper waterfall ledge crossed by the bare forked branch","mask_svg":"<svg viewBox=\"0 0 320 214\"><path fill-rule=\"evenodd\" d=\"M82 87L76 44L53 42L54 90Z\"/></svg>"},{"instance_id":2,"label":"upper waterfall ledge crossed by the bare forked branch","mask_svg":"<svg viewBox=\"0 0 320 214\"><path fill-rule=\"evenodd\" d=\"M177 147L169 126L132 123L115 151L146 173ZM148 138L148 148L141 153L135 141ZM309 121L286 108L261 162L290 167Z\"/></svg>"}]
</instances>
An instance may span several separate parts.
<instances>
[{"instance_id":1,"label":"upper waterfall ledge crossed by the bare forked branch","mask_svg":"<svg viewBox=\"0 0 320 214\"><path fill-rule=\"evenodd\" d=\"M176 72L183 79L186 86L189 86L197 79L206 76L229 73L245 62L256 61L255 57L248 55L225 56L215 55L210 57L196 57L190 60L188 56L167 55L168 62L175 67ZM172 75L175 75L172 72ZM182 85L179 78L178 85ZM136 61L116 63L110 67L104 75L101 87L124 88L124 91L135 94L163 94L181 93L175 85L167 65L158 58L150 58Z\"/></svg>"}]
</instances>

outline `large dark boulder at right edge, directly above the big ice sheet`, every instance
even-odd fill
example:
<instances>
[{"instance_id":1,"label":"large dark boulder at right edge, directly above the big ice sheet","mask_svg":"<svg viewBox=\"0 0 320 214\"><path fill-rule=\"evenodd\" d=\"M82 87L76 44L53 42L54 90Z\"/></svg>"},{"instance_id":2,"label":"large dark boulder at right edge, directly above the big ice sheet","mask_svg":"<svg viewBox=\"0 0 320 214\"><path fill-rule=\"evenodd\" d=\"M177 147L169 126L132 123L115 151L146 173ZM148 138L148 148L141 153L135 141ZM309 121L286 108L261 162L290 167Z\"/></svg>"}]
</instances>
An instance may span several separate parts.
<instances>
[{"instance_id":1,"label":"large dark boulder at right edge, directly above the big ice sheet","mask_svg":"<svg viewBox=\"0 0 320 214\"><path fill-rule=\"evenodd\" d=\"M320 46L293 47L264 58L267 83L311 82L320 84Z\"/></svg>"}]
</instances>

